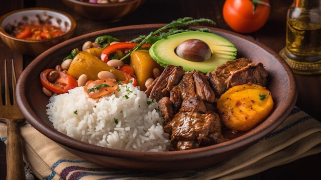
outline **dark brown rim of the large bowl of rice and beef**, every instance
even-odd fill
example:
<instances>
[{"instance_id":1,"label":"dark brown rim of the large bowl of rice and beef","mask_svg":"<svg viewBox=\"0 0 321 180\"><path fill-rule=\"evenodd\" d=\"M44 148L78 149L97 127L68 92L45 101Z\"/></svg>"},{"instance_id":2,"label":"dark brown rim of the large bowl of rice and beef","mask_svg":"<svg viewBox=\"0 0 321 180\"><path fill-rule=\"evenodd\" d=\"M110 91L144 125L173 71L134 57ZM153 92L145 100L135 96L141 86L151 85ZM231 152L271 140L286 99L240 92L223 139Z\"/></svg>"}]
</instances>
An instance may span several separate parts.
<instances>
[{"instance_id":1,"label":"dark brown rim of the large bowl of rice and beef","mask_svg":"<svg viewBox=\"0 0 321 180\"><path fill-rule=\"evenodd\" d=\"M52 48L50 48L47 51L53 51L55 49L58 49L59 47L63 47L65 44L70 44L73 41L81 41L81 39L85 38L88 35L94 36L102 33L108 33L111 31L121 31L126 28L131 28L131 29L144 29L144 28L157 28L157 27L162 27L165 24L145 24L145 25L130 25L130 26L122 26L122 27L115 27L115 28L110 28L110 29L104 29L104 30L99 30L95 32L91 32L88 34L84 34L81 36L77 36L71 39L68 39L64 43L58 44ZM193 27L204 27L204 26L193 26ZM291 113L292 108L295 106L296 99L297 99L297 88L296 88L296 80L295 76L288 66L288 64L284 61L282 57L280 57L276 52L268 48L262 43L259 43L255 41L254 39L247 37L242 34L238 34L232 31L224 30L224 29L219 29L219 28L213 28L213 27L207 27L212 31L216 32L222 32L222 33L228 33L233 36L237 36L240 38L245 39L245 41L249 41L250 43L254 43L263 49L265 49L268 53L273 55L278 62L283 66L283 68L288 72L289 76L289 89L292 89L292 93L288 94L288 97L286 99L286 102L282 102L282 104L286 103L288 104L288 108L286 111L279 112L277 109L273 108L273 111L277 113L277 116L275 117L276 119L271 119L270 116L265 120L269 126L262 129L260 126L257 126L256 128L248 131L246 134L241 135L239 137L236 137L234 139L231 139L227 142L219 143L216 145L211 145L207 147L201 147L201 148L196 148L196 149L190 149L190 150L184 150L184 151L165 151L165 152L142 152L142 151L128 151L128 150L119 150L119 149L112 149L112 148L107 148L107 147L100 147L96 145L92 145L89 143L85 143L82 141L79 141L77 139L74 139L72 137L69 137L67 135L63 135L62 133L58 132L54 128L50 127L47 125L41 118L39 118L35 112L33 112L33 109L26 104L27 103L27 98L26 94L22 92L24 91L24 79L27 77L27 74L24 74L24 72L30 71L32 69L32 66L28 65L26 68L26 71L23 71L22 76L19 78L18 84L17 84L17 103L19 105L19 108L21 108L22 112L28 112L24 113L26 119L28 122L35 128L39 130L44 130L41 133L46 135L47 137L51 138L54 142L57 144L60 144L64 147L71 148L77 151L81 152L90 152L91 154L95 155L102 155L102 156L108 156L112 158L128 158L132 160L137 160L137 161L159 161L159 162L165 162L169 160L175 160L175 161L185 161L186 159L195 159L199 157L204 157L204 156L211 156L212 154L220 154L222 152L226 151L231 151L233 149L241 148L246 145L251 145L254 144L256 141L264 137L265 135L269 134L272 132L274 129L276 129L281 123L284 122L286 117ZM41 55L37 56L32 64L36 64L41 61L43 56L45 56L46 53L42 53ZM24 82L27 84L27 82ZM20 92L19 92L20 91ZM274 112L273 112L274 113ZM61 136L64 136L65 142L62 142ZM72 142L70 144L70 142ZM191 156L193 154L193 156Z\"/></svg>"}]
</instances>

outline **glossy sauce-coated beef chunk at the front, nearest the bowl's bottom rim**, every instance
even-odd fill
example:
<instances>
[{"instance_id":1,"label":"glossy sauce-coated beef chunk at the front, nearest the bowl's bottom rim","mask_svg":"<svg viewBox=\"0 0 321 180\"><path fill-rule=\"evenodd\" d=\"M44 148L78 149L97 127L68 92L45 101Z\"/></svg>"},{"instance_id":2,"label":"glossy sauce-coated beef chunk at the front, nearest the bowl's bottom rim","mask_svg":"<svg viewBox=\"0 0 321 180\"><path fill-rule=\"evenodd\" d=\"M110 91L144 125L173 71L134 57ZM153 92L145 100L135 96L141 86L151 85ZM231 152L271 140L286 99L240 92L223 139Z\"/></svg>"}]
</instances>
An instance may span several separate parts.
<instances>
[{"instance_id":1,"label":"glossy sauce-coated beef chunk at the front, nearest the bowl's bottom rim","mask_svg":"<svg viewBox=\"0 0 321 180\"><path fill-rule=\"evenodd\" d=\"M164 131L170 134L174 150L187 150L227 141L221 128L217 114L178 112Z\"/></svg>"}]
</instances>

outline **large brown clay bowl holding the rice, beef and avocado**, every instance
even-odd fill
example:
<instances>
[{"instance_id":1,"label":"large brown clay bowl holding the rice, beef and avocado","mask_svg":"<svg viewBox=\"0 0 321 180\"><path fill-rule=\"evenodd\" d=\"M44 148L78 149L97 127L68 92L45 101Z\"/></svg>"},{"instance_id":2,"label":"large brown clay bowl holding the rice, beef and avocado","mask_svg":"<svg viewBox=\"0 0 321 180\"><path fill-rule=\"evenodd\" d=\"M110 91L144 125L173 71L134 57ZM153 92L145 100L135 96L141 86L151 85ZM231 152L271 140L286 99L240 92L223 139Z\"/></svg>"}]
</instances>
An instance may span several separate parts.
<instances>
[{"instance_id":1,"label":"large brown clay bowl holding the rice, beef and avocado","mask_svg":"<svg viewBox=\"0 0 321 180\"><path fill-rule=\"evenodd\" d=\"M139 35L147 35L160 26L163 25L137 25L92 32L56 45L36 57L23 71L17 85L17 102L27 121L63 148L91 162L119 169L177 171L213 165L242 152L273 131L290 114L296 102L297 90L294 75L286 62L277 53L251 38L210 28L213 33L229 39L238 49L239 57L262 62L269 73L267 88L272 93L274 109L267 119L254 129L230 141L208 147L184 151L137 152L90 145L68 137L53 128L46 115L46 104L49 98L42 92L39 81L41 71L54 68L72 49L81 48L84 42L93 41L97 36L108 34L128 41Z\"/></svg>"}]
</instances>

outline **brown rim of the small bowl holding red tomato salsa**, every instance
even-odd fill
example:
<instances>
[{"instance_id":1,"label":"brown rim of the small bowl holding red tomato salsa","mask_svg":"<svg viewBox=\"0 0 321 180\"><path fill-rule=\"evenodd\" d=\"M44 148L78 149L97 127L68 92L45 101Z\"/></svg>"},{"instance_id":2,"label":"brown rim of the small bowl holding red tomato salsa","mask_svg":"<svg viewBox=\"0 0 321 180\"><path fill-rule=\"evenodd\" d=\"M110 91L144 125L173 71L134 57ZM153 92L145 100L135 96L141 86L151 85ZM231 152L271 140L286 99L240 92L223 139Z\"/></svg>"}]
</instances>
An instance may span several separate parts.
<instances>
[{"instance_id":1,"label":"brown rim of the small bowl holding red tomato salsa","mask_svg":"<svg viewBox=\"0 0 321 180\"><path fill-rule=\"evenodd\" d=\"M31 40L31 39L21 39L21 38L17 38L9 33L7 33L3 28L2 28L2 22L4 21L5 18L7 18L8 16L14 14L14 13L17 13L17 12L23 12L23 11L32 11L32 10L40 10L40 11L51 11L51 12L54 12L54 13L59 13L65 17L67 17L70 21L70 29L65 32L64 34L62 35L59 35L59 36L56 36L56 37L52 37L52 38L47 38L47 39L40 39L40 40ZM8 38L8 39L11 39L13 41L18 41L18 42L26 42L26 43L43 43L43 42L51 42L51 41L54 41L55 39L59 39L61 37L65 37L65 36L68 36L70 35L71 33L73 33L76 29L76 26L77 26L77 23L76 23L76 20L68 13L64 12L64 11L61 11L61 10L57 10L57 9L51 9L51 8L44 8L44 7L33 7L33 8L22 8L22 9L18 9L18 10L14 10L14 11L11 11L11 12L8 12L4 15L2 15L0 17L0 35Z\"/></svg>"}]
</instances>

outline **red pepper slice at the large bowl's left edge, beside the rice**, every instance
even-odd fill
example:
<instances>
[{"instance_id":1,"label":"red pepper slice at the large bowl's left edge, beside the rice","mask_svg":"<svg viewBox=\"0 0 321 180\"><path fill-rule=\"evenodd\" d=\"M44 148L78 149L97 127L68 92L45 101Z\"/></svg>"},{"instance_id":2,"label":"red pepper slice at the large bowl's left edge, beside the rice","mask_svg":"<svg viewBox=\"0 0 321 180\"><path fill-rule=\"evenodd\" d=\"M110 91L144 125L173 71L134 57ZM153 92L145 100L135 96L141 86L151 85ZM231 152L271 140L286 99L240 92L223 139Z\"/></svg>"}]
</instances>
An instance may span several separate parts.
<instances>
[{"instance_id":1,"label":"red pepper slice at the large bowl's left edge, beside the rice","mask_svg":"<svg viewBox=\"0 0 321 180\"><path fill-rule=\"evenodd\" d=\"M51 71L54 71L54 69L46 69L40 74L41 84L49 91L63 94L78 86L76 79L63 71L58 71L59 77L53 83L50 83L47 76Z\"/></svg>"}]
</instances>

